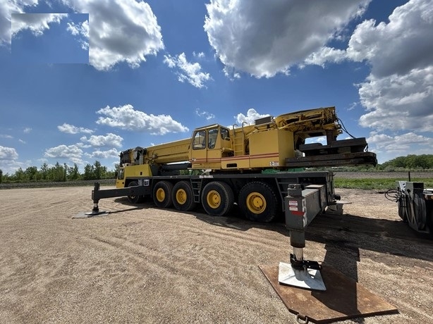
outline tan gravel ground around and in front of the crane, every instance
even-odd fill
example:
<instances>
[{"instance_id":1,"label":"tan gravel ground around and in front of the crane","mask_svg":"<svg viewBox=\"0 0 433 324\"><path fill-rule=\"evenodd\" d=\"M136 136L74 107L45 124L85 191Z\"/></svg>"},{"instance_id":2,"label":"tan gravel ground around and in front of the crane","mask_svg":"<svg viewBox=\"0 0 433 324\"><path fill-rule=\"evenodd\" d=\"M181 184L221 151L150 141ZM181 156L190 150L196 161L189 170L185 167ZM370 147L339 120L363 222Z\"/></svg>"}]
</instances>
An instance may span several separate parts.
<instances>
[{"instance_id":1,"label":"tan gravel ground around and in front of the crane","mask_svg":"<svg viewBox=\"0 0 433 324\"><path fill-rule=\"evenodd\" d=\"M313 220L305 258L398 309L340 323L433 323L433 241L410 230L383 193L336 193L352 203L343 216ZM295 323L258 267L288 262L283 223L125 198L100 201L109 216L73 219L91 210L90 194L0 190L0 323Z\"/></svg>"}]
</instances>

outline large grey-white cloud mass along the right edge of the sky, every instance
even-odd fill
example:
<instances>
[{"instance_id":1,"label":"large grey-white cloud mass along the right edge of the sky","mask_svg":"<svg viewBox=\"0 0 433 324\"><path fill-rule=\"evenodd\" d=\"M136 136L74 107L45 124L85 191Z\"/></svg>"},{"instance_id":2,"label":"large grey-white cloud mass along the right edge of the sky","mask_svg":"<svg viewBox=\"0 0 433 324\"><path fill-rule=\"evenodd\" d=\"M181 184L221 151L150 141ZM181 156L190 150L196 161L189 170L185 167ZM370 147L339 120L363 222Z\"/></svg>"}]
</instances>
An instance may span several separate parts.
<instances>
[{"instance_id":1,"label":"large grey-white cloud mass along the right edge of the sky","mask_svg":"<svg viewBox=\"0 0 433 324\"><path fill-rule=\"evenodd\" d=\"M432 30L432 1L410 0L389 15L388 23L360 23L346 51L323 46L304 63L367 63L371 73L357 85L367 108L360 125L379 132L433 132Z\"/></svg>"}]
</instances>

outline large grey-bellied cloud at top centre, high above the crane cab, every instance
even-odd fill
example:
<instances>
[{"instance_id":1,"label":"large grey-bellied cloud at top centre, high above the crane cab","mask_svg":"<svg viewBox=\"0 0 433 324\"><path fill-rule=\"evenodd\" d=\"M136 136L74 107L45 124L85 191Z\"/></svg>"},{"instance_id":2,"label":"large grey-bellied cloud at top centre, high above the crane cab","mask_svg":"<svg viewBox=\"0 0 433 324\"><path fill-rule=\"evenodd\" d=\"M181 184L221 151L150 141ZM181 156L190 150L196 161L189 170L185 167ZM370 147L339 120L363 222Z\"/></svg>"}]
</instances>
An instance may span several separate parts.
<instances>
[{"instance_id":1,"label":"large grey-bellied cloud at top centre, high above the crane cab","mask_svg":"<svg viewBox=\"0 0 433 324\"><path fill-rule=\"evenodd\" d=\"M205 31L225 73L288 74L360 16L370 0L211 0ZM323 54L322 54L323 55Z\"/></svg>"}]
</instances>

